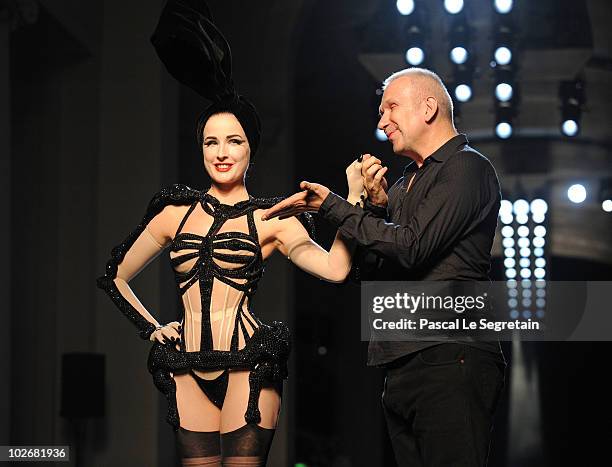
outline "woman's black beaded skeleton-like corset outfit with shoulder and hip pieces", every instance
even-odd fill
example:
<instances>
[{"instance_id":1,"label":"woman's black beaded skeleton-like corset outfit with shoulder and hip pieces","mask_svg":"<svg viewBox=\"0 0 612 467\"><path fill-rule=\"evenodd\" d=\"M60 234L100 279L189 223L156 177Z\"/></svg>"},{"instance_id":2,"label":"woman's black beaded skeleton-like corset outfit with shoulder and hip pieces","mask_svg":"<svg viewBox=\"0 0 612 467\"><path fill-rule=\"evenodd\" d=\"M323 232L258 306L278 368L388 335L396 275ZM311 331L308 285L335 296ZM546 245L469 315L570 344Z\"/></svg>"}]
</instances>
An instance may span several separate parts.
<instances>
[{"instance_id":1,"label":"woman's black beaded skeleton-like corset outfit with shoulder and hip pieces","mask_svg":"<svg viewBox=\"0 0 612 467\"><path fill-rule=\"evenodd\" d=\"M143 233L147 224L168 205L187 205L187 210L175 237L168 248L173 252L184 254L171 258L171 265L175 272L177 290L180 295L187 289L198 284L201 300L201 327L200 346L197 351L186 351L185 325L181 327L181 349L176 350L173 345L155 343L149 354L148 367L157 388L166 395L168 400L168 422L176 429L179 427L178 409L176 406L176 385L171 373L182 373L190 370L212 371L227 370L229 368L251 370L249 375L249 402L245 413L247 423L258 423L260 413L258 409L259 393L262 387L275 384L282 386L282 380L287 377L287 358L290 352L290 334L288 328L280 322L271 325L262 323L251 309L251 297L257 289L257 283L263 275L263 258L261 247L255 228L253 211L268 208L279 202L281 198L256 199L250 198L235 205L222 204L205 191L193 190L185 185L173 185L165 188L155 195L149 204L147 213L142 222L128 238L113 249L111 259L106 266L106 274L98 279L98 286L102 288L115 302L117 307L140 329L143 339L148 339L155 330L155 326L147 321L130 302L121 294L114 279L117 269L134 242ZM185 221L194 211L201 208L214 221L204 236L183 232ZM248 232L221 232L228 219L245 218ZM312 219L302 217L307 228L312 228ZM309 229L309 230L310 230ZM227 251L239 252L236 254ZM248 253L248 254L246 254ZM197 258L193 266L187 271L180 272L179 266L189 260ZM235 268L223 267L223 264L235 264ZM227 284L230 288L242 292L240 301L235 308L234 322L231 329L232 337L229 350L216 350L213 348L210 312L211 293L214 281ZM180 303L181 316L185 320L185 307ZM249 318L249 315L252 317ZM246 324L253 332L249 335ZM240 338L245 343L239 349ZM207 389L213 396L213 403L223 404L227 381L223 377L207 382ZM204 390L208 394L206 390Z\"/></svg>"}]
</instances>

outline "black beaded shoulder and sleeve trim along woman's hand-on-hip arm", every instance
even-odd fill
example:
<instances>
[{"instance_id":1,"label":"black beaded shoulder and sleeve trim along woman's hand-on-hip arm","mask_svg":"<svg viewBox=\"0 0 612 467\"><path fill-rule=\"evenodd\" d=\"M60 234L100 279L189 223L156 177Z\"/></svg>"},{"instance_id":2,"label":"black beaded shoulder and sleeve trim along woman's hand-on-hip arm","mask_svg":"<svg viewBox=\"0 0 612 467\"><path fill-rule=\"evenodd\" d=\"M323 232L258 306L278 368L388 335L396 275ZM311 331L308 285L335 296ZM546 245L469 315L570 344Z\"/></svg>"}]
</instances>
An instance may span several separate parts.
<instances>
[{"instance_id":1,"label":"black beaded shoulder and sleeve trim along woman's hand-on-hip arm","mask_svg":"<svg viewBox=\"0 0 612 467\"><path fill-rule=\"evenodd\" d=\"M147 224L157 214L159 214L166 206L175 205L181 206L185 204L191 204L198 200L200 192L189 188L186 185L172 185L163 188L153 196L149 202L147 212L145 213L142 221L136 229L134 229L127 238L117 245L111 251L111 257L106 263L106 273L99 277L97 285L99 288L104 290L111 300L115 303L117 308L132 322L140 331L140 337L148 339L153 331L155 331L155 325L147 321L131 304L128 302L119 289L115 285L114 279L117 277L117 268L123 261L128 250L132 247L136 239L144 231Z\"/></svg>"}]
</instances>

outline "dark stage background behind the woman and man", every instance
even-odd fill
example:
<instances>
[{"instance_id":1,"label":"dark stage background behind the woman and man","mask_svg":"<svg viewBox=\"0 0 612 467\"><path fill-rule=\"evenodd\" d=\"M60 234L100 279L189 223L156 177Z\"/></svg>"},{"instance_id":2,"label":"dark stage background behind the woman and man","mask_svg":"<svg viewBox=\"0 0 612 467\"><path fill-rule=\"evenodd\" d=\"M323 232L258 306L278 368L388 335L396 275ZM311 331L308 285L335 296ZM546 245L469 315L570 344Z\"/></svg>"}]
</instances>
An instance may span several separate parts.
<instances>
[{"instance_id":1,"label":"dark stage background behind the woman and man","mask_svg":"<svg viewBox=\"0 0 612 467\"><path fill-rule=\"evenodd\" d=\"M417 9L425 66L450 85L452 22L442 3L417 1ZM612 7L604 0L514 3L515 134L502 141L493 132L496 23L487 0L465 1L474 97L456 109L458 129L491 159L506 199L547 200L547 279L609 281L612 214L599 197L612 177ZM176 182L207 185L194 137L206 103L167 75L148 42L161 4L0 1L0 232L7 246L0 373L8 375L0 378L0 444L71 445L73 457L79 446L87 466L175 462L166 405L145 367L148 345L94 287L111 247L153 193ZM376 89L406 66L407 18L394 1L209 4L232 46L238 89L263 119L251 194L289 194L302 179L345 194L344 169L364 152L389 165L390 181L401 174L407 160L374 137ZM576 77L587 100L580 135L567 138L559 131L558 89ZM573 183L589 193L580 205L565 194ZM317 221L324 247L333 234ZM502 280L501 237L493 254L492 278ZM134 288L169 321L176 299L166 261L151 265ZM380 408L383 373L365 367L358 285L323 283L280 255L261 285L256 313L282 319L294 335L269 465L394 465ZM490 465L604 464L612 441L610 350L609 342L504 343L511 366ZM62 378L62 355L75 352L103 356L102 383L83 370ZM91 417L61 417L70 402Z\"/></svg>"}]
</instances>

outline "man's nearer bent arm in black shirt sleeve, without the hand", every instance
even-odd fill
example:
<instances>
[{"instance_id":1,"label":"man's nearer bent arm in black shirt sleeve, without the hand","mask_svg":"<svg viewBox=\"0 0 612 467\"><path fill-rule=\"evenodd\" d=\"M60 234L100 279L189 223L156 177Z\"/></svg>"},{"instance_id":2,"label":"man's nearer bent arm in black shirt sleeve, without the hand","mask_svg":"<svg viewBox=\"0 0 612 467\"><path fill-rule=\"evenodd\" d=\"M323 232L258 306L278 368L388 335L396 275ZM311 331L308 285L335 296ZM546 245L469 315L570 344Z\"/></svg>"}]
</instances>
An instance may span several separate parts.
<instances>
[{"instance_id":1,"label":"man's nearer bent arm in black shirt sleeve, without the hand","mask_svg":"<svg viewBox=\"0 0 612 467\"><path fill-rule=\"evenodd\" d=\"M333 193L319 212L345 237L410 269L446 251L470 226L482 221L498 192L489 162L477 154L461 153L445 163L406 225L387 223Z\"/></svg>"}]
</instances>

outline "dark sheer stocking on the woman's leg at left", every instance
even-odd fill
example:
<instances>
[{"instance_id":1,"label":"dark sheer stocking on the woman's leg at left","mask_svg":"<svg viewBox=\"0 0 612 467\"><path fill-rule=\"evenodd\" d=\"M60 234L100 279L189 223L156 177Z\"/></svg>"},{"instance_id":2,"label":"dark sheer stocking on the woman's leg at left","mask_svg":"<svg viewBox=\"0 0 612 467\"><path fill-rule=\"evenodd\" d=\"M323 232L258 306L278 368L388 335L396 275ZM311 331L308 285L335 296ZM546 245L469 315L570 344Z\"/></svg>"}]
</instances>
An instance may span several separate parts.
<instances>
[{"instance_id":1,"label":"dark sheer stocking on the woman's leg at left","mask_svg":"<svg viewBox=\"0 0 612 467\"><path fill-rule=\"evenodd\" d=\"M221 467L218 431L190 431L179 427L176 445L183 467Z\"/></svg>"}]
</instances>

